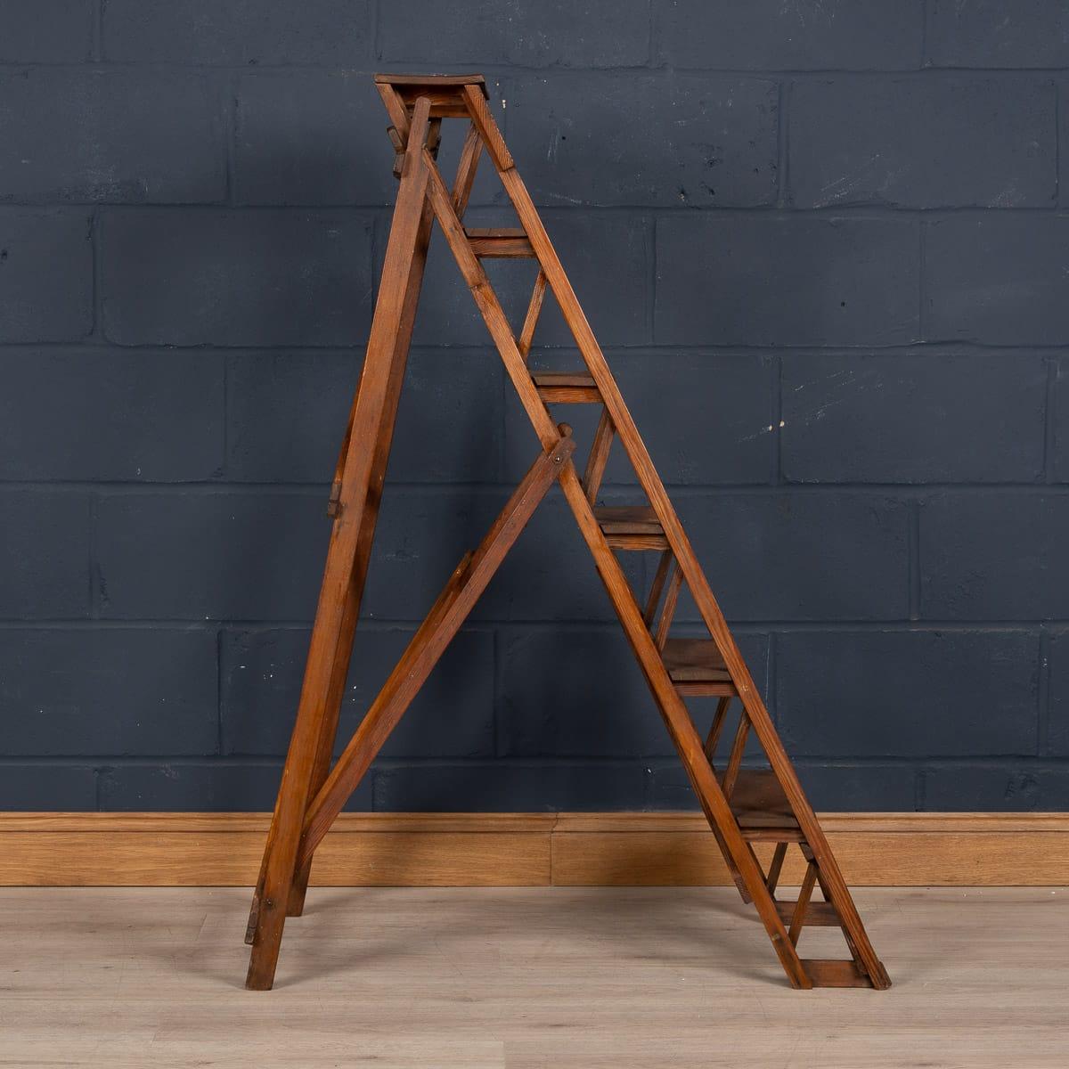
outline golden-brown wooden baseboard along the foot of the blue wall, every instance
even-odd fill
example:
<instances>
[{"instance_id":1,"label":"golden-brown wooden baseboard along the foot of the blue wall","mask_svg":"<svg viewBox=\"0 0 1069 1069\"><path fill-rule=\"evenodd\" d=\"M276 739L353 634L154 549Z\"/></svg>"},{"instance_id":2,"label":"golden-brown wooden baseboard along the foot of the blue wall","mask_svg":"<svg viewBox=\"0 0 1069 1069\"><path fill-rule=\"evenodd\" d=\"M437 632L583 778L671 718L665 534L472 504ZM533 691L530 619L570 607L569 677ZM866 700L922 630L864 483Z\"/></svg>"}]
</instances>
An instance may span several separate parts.
<instances>
[{"instance_id":1,"label":"golden-brown wooden baseboard along the foot of the blue wall","mask_svg":"<svg viewBox=\"0 0 1069 1069\"><path fill-rule=\"evenodd\" d=\"M255 880L268 821L0 814L0 885L244 886ZM825 814L821 823L855 886L1069 884L1067 814ZM797 882L799 861L785 866L784 883ZM696 814L342 814L312 882L703 886L730 878Z\"/></svg>"}]
</instances>

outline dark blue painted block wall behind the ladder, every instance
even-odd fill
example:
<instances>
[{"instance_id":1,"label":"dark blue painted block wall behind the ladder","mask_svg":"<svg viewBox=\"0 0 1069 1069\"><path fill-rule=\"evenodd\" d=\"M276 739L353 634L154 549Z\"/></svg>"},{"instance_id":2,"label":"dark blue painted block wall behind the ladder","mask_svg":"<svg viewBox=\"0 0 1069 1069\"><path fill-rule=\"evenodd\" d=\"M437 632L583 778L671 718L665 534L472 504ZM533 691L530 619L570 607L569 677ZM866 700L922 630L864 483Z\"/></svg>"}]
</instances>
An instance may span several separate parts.
<instances>
[{"instance_id":1,"label":"dark blue painted block wall behind the ladder","mask_svg":"<svg viewBox=\"0 0 1069 1069\"><path fill-rule=\"evenodd\" d=\"M393 68L486 73L815 803L1065 806L1067 41L1057 0L4 4L0 804L269 806ZM343 731L536 448L433 255ZM691 804L559 499L355 804Z\"/></svg>"}]
</instances>

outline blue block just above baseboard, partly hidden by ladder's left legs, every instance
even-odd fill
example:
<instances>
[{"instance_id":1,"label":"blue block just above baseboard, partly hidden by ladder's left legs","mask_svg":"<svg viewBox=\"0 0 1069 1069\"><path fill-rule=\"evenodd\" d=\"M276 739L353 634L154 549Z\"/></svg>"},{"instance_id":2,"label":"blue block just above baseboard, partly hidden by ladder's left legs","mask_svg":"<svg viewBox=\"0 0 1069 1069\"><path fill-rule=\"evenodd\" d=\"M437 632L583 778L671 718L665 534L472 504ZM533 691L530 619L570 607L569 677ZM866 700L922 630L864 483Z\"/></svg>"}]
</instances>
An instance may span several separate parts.
<instances>
[{"instance_id":1,"label":"blue block just above baseboard, partly hidden by ladder's left legs","mask_svg":"<svg viewBox=\"0 0 1069 1069\"><path fill-rule=\"evenodd\" d=\"M111 811L269 812L281 761L156 761L100 771L100 808ZM357 788L346 809L371 808L371 787Z\"/></svg>"}]
</instances>

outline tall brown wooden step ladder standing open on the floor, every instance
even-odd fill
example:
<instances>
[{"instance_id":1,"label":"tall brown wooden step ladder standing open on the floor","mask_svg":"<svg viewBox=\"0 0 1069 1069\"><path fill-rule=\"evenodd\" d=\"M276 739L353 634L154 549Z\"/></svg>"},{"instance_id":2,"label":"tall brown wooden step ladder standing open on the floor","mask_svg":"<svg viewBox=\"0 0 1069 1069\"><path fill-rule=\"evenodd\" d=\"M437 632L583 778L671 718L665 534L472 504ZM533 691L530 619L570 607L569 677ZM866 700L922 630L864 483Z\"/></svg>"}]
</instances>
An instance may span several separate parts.
<instances>
[{"instance_id":1,"label":"tall brown wooden step ladder standing open on the floor","mask_svg":"<svg viewBox=\"0 0 1069 1069\"><path fill-rule=\"evenodd\" d=\"M367 356L330 495L328 511L335 517L334 526L296 725L249 915L246 942L251 944L252 954L246 986L255 990L272 987L285 917L301 913L316 847L520 531L557 483L590 547L735 884L744 901L756 907L791 985L887 988L887 973L869 943L824 833L491 115L483 78L378 75L375 82L392 124L389 136L397 153L394 173L400 188ZM444 119L467 123L451 189L436 162ZM518 228L464 227L483 151L505 186ZM338 713L435 220L538 434L541 452L482 543L456 567L331 768ZM483 269L486 258L529 259L538 264L518 335L513 334ZM547 291L575 338L585 369L532 372L528 367ZM554 421L546 407L549 404L602 406L582 477L572 455L575 441L571 429ZM626 508L597 503L615 438L635 469L644 503ZM645 605L636 599L615 551L660 554ZM670 634L684 585L708 629L708 638ZM719 699L704 739L684 703L684 698L699 696ZM724 768L716 769L717 742L734 699L740 707L734 739ZM763 749L768 770L742 766L750 735ZM775 845L768 871L758 861L755 842ZM801 849L807 867L797 899L781 902L775 897L776 884L792 842ZM824 901L812 902L818 885ZM805 925L840 927L850 957L801 958L797 943Z\"/></svg>"}]
</instances>

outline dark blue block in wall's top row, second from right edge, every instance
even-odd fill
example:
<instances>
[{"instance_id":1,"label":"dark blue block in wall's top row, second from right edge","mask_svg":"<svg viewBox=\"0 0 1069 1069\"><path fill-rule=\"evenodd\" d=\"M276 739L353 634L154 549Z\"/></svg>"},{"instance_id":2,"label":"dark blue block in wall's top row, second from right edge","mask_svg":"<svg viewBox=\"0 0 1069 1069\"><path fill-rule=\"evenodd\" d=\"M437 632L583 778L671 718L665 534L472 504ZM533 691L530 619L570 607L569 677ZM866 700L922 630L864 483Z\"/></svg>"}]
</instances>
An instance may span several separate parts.
<instances>
[{"instance_id":1,"label":"dark blue block in wall's top row, second from right edge","mask_svg":"<svg viewBox=\"0 0 1069 1069\"><path fill-rule=\"evenodd\" d=\"M915 69L921 0L706 3L654 7L660 58L671 66L732 71Z\"/></svg>"}]
</instances>

